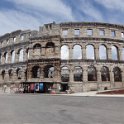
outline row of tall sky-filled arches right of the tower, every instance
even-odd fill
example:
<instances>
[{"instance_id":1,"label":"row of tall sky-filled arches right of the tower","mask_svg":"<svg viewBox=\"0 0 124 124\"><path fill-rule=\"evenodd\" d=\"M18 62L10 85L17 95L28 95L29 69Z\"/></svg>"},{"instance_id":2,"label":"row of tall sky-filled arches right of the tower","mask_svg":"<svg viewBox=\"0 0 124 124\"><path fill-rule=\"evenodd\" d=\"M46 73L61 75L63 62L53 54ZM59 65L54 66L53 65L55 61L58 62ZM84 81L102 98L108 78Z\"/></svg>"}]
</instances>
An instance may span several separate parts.
<instances>
[{"instance_id":1,"label":"row of tall sky-filled arches right of the tower","mask_svg":"<svg viewBox=\"0 0 124 124\"><path fill-rule=\"evenodd\" d=\"M72 49L69 45L61 46L61 59L90 59L90 60L124 60L124 48L111 45L109 48L105 44L100 44L97 48L93 44L81 46L75 44Z\"/></svg>"}]
</instances>

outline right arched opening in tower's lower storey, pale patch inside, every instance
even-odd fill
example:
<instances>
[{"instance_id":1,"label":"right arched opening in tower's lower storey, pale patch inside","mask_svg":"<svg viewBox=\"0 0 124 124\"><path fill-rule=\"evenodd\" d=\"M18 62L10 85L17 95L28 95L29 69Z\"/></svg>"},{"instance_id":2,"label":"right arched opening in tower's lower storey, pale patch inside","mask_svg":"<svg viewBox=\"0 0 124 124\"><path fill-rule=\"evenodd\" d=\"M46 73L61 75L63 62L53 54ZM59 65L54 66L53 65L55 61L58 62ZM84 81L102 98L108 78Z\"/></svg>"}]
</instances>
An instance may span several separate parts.
<instances>
[{"instance_id":1,"label":"right arched opening in tower's lower storey, pale patch inside","mask_svg":"<svg viewBox=\"0 0 124 124\"><path fill-rule=\"evenodd\" d=\"M55 67L52 65L47 65L44 67L44 78L54 78Z\"/></svg>"}]
</instances>

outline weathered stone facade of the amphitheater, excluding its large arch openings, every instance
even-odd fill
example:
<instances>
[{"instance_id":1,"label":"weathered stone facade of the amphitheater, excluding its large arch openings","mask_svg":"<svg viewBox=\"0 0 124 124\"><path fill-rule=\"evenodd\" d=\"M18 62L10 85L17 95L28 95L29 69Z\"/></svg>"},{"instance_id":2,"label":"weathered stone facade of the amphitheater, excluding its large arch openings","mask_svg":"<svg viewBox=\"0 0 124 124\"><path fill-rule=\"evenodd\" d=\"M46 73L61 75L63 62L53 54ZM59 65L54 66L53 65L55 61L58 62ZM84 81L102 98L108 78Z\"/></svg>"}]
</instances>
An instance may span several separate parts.
<instances>
[{"instance_id":1,"label":"weathered stone facade of the amphitheater, excluding its large arch openings","mask_svg":"<svg viewBox=\"0 0 124 124\"><path fill-rule=\"evenodd\" d=\"M88 30L91 34L88 34ZM103 31L100 34L100 31ZM124 86L124 26L94 22L69 22L45 24L39 31L15 31L0 37L0 84L11 85L23 82L55 82L68 84L74 92L122 88ZM51 47L53 45L53 47ZM61 58L62 46L69 48L69 58ZM73 58L73 49L79 45L82 58ZM87 58L87 46L94 48L94 59ZM100 46L106 48L106 59L100 58ZM117 59L112 59L112 46L117 48ZM22 51L21 51L22 50ZM12 53L15 52L14 62ZM23 57L19 57L20 54ZM7 59L6 59L6 56ZM54 77L44 77L44 68L55 68ZM37 78L32 76L32 68L40 67ZM97 80L88 81L88 67L94 66ZM61 80L61 69L69 69L69 81ZM82 68L82 81L74 81L74 68ZM102 81L101 68L109 69L110 80ZM114 80L114 68L121 70L121 81ZM10 73L11 72L11 73ZM3 76L4 75L4 76Z\"/></svg>"}]
</instances>

